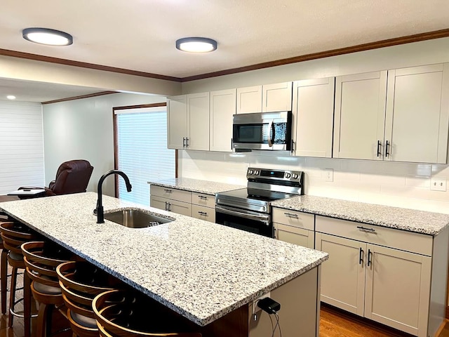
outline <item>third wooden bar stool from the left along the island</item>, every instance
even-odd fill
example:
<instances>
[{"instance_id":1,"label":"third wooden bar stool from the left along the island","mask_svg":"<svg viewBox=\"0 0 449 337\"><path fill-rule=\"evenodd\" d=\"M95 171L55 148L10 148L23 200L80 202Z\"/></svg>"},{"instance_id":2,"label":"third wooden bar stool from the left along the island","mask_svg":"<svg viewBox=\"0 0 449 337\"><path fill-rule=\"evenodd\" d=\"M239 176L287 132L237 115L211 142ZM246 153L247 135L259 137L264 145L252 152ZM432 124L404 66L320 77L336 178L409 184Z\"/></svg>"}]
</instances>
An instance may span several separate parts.
<instances>
[{"instance_id":1,"label":"third wooden bar stool from the left along the island","mask_svg":"<svg viewBox=\"0 0 449 337\"><path fill-rule=\"evenodd\" d=\"M93 298L121 283L87 261L62 263L56 272L72 331L78 337L98 337Z\"/></svg>"}]
</instances>

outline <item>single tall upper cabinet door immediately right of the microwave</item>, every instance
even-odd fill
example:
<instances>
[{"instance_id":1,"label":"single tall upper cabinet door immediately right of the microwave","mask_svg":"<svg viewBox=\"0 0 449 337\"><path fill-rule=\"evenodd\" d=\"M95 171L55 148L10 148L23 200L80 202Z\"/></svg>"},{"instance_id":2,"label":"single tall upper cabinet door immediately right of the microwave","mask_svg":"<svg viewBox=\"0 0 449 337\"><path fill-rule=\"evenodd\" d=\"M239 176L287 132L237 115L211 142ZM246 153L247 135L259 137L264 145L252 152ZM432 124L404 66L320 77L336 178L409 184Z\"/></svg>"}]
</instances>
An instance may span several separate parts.
<instances>
[{"instance_id":1,"label":"single tall upper cabinet door immediately right of the microwave","mask_svg":"<svg viewBox=\"0 0 449 337\"><path fill-rule=\"evenodd\" d=\"M295 81L295 156L332 157L335 77Z\"/></svg>"}]
</instances>

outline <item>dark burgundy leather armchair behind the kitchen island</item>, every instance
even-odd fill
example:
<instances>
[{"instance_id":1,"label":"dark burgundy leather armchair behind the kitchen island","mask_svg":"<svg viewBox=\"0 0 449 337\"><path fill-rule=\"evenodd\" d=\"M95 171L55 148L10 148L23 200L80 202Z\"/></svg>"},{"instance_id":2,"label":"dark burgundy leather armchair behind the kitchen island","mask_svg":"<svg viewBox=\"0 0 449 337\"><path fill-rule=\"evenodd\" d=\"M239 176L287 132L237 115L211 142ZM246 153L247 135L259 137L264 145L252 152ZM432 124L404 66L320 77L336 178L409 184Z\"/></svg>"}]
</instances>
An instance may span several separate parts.
<instances>
[{"instance_id":1,"label":"dark burgundy leather armchair behind the kitchen island","mask_svg":"<svg viewBox=\"0 0 449 337\"><path fill-rule=\"evenodd\" d=\"M87 160L65 161L59 166L56 178L48 187L20 187L19 190L45 189L46 196L86 192L93 166Z\"/></svg>"}]
</instances>

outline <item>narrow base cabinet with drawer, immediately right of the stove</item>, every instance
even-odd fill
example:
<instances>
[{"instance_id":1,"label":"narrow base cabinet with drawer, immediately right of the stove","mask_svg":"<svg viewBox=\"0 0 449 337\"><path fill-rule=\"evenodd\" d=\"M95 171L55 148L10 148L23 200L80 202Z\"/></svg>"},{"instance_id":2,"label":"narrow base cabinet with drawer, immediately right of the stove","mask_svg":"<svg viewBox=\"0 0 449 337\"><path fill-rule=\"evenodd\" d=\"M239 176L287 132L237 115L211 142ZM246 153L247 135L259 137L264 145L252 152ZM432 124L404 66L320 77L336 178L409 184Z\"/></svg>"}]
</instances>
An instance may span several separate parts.
<instances>
[{"instance_id":1,"label":"narrow base cabinet with drawer, immediately right of the stove","mask_svg":"<svg viewBox=\"0 0 449 337\"><path fill-rule=\"evenodd\" d=\"M274 237L283 242L314 248L314 215L273 207Z\"/></svg>"}]
</instances>

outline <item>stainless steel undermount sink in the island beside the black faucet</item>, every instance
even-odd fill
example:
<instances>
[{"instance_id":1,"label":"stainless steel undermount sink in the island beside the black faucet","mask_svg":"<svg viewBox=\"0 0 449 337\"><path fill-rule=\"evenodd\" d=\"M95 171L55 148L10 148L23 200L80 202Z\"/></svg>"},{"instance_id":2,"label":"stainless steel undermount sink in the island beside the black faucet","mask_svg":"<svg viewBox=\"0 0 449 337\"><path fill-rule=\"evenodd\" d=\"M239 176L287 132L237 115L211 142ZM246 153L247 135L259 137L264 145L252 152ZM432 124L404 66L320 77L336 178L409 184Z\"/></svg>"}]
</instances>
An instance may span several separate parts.
<instances>
[{"instance_id":1,"label":"stainless steel undermount sink in the island beside the black faucet","mask_svg":"<svg viewBox=\"0 0 449 337\"><path fill-rule=\"evenodd\" d=\"M105 220L118 223L130 228L145 228L160 225L161 223L170 223L171 219L154 216L137 209L126 209L112 213L105 213Z\"/></svg>"}]
</instances>

